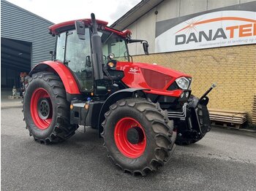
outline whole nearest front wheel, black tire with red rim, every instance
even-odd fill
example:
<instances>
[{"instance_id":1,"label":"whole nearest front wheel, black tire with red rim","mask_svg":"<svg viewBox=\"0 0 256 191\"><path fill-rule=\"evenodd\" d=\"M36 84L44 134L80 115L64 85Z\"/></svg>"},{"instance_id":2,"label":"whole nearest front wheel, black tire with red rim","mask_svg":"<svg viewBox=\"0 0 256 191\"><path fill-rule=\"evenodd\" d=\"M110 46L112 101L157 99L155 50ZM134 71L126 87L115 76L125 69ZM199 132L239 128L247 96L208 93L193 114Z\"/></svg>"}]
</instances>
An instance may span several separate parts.
<instances>
[{"instance_id":1,"label":"whole nearest front wheel, black tire with red rim","mask_svg":"<svg viewBox=\"0 0 256 191\"><path fill-rule=\"evenodd\" d=\"M102 126L108 157L132 175L157 171L174 150L173 122L159 106L146 99L117 101L105 113Z\"/></svg>"}]
</instances>

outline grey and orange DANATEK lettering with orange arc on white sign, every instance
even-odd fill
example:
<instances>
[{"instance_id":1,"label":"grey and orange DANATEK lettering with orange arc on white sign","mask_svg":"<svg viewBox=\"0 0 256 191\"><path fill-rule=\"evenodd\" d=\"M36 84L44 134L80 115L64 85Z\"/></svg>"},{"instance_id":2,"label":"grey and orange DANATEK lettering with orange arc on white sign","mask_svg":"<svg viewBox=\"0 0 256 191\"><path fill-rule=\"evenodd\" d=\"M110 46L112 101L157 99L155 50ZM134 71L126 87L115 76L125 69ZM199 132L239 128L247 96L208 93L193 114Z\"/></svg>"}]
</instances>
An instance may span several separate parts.
<instances>
[{"instance_id":1,"label":"grey and orange DANATEK lettering with orange arc on white sign","mask_svg":"<svg viewBox=\"0 0 256 191\"><path fill-rule=\"evenodd\" d=\"M226 26L220 28L215 28L215 22L227 22ZM230 25L231 23L246 22L248 24L241 25ZM203 24L211 24L207 28L203 28ZM203 30L197 30L197 26ZM187 31L188 34L178 34L181 31ZM191 31L195 32L191 32ZM198 22L188 23L188 26L181 28L181 30L176 32L175 44L189 44L190 42L210 42L216 39L233 39L246 36L256 36L256 20L244 18L244 17L217 17L208 20L202 20Z\"/></svg>"}]
</instances>

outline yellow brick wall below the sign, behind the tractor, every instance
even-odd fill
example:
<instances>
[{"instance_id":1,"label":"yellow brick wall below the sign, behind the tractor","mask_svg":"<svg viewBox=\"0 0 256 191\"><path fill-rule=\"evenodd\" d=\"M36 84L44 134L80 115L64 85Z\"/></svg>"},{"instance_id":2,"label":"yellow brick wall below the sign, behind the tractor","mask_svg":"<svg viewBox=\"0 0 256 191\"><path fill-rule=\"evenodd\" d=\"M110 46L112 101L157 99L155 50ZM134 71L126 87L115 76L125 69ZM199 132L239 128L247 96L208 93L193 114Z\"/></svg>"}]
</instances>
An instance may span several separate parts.
<instances>
[{"instance_id":1,"label":"yellow brick wall below the sign, behind the tractor","mask_svg":"<svg viewBox=\"0 0 256 191\"><path fill-rule=\"evenodd\" d=\"M209 94L209 108L249 112L256 94L256 44L151 55L133 61L157 63L192 75L192 94L200 96L217 82ZM156 79L157 80L157 79Z\"/></svg>"}]
</instances>

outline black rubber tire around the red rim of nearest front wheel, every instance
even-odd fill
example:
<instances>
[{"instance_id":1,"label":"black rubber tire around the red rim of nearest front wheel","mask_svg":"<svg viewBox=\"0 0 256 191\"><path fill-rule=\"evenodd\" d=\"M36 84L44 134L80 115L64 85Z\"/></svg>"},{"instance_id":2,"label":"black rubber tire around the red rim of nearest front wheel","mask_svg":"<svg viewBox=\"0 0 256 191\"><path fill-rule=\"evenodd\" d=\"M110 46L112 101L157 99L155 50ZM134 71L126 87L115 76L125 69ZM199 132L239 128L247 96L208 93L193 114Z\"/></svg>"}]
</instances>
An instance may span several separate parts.
<instances>
[{"instance_id":1,"label":"black rubber tire around the red rim of nearest front wheel","mask_svg":"<svg viewBox=\"0 0 256 191\"><path fill-rule=\"evenodd\" d=\"M135 158L127 157L118 149L114 135L118 121L127 117L138 121L145 131L145 150ZM173 153L176 139L176 133L173 132L173 121L168 120L167 113L163 112L159 105L153 104L145 98L117 101L105 113L105 121L102 122L102 126L104 128L102 136L108 150L108 157L122 171L134 176L146 176L151 171L157 171Z\"/></svg>"}]
</instances>

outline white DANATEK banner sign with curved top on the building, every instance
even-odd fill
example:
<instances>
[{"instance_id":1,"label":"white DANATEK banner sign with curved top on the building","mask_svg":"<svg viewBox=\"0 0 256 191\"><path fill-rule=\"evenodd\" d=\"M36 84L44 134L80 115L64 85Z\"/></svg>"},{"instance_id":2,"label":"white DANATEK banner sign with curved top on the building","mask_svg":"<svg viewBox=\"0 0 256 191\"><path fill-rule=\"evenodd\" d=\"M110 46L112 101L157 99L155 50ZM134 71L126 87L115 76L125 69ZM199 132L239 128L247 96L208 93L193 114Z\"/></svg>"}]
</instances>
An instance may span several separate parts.
<instances>
[{"instance_id":1,"label":"white DANATEK banner sign with curved top on the building","mask_svg":"<svg viewBox=\"0 0 256 191\"><path fill-rule=\"evenodd\" d=\"M256 12L219 11L193 17L155 39L155 52L256 43Z\"/></svg>"}]
</instances>

